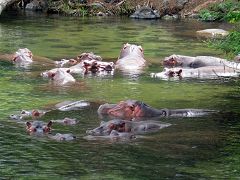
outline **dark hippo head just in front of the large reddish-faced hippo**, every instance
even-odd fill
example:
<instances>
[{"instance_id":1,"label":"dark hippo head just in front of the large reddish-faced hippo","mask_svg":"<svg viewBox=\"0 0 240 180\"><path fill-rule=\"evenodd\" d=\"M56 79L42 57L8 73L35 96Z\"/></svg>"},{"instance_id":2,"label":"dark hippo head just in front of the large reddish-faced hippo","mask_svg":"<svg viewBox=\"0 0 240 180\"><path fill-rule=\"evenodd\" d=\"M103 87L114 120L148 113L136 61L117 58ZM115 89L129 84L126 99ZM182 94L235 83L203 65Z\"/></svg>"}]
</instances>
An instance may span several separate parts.
<instances>
[{"instance_id":1,"label":"dark hippo head just in front of the large reddish-faced hippo","mask_svg":"<svg viewBox=\"0 0 240 180\"><path fill-rule=\"evenodd\" d=\"M87 131L87 134L92 136L108 136L112 130L117 132L130 132L131 128L124 120L114 119L108 122L102 122L99 127Z\"/></svg>"}]
</instances>

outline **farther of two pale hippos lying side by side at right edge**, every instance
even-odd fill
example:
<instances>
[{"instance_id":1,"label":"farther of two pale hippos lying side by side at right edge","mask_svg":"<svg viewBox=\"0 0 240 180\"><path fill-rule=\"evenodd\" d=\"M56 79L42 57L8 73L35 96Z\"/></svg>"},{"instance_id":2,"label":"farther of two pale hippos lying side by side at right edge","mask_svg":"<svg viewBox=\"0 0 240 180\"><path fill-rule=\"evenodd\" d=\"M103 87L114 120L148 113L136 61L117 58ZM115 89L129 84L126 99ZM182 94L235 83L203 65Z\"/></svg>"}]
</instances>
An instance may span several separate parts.
<instances>
[{"instance_id":1,"label":"farther of two pale hippos lying side by side at right edge","mask_svg":"<svg viewBox=\"0 0 240 180\"><path fill-rule=\"evenodd\" d=\"M205 66L226 66L240 70L240 64L212 56L182 56L171 55L163 61L165 67L190 67L199 68Z\"/></svg>"}]
</instances>

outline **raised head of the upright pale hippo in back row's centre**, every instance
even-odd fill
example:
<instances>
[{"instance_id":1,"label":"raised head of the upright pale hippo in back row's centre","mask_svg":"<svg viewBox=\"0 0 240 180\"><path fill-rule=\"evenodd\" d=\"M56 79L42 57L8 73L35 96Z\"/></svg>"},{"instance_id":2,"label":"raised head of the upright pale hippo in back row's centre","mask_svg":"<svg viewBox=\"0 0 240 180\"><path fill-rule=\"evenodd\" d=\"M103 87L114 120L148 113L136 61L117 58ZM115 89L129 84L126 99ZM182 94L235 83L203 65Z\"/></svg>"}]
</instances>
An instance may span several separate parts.
<instances>
[{"instance_id":1,"label":"raised head of the upright pale hippo in back row's centre","mask_svg":"<svg viewBox=\"0 0 240 180\"><path fill-rule=\"evenodd\" d=\"M128 43L124 44L121 49L119 59L124 58L129 55L137 56L137 57L140 56L140 57L144 58L142 46L128 44Z\"/></svg>"}]
</instances>

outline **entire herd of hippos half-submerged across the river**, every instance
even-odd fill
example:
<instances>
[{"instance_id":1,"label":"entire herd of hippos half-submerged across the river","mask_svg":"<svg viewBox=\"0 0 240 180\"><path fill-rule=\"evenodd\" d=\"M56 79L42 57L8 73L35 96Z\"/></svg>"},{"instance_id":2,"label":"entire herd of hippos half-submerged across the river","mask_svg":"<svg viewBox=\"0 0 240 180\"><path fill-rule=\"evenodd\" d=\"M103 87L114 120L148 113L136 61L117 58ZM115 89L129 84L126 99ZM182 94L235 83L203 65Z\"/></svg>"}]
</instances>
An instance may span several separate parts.
<instances>
[{"instance_id":1,"label":"entire herd of hippos half-submerged across the river","mask_svg":"<svg viewBox=\"0 0 240 180\"><path fill-rule=\"evenodd\" d=\"M32 52L19 49L12 57L12 62L17 66L27 67L34 63ZM51 61L52 62L52 61ZM75 74L97 74L100 76L113 75L115 70L127 74L140 74L147 66L144 59L143 48L138 45L126 43L123 45L118 60L104 62L94 53L82 53L75 59L62 59L55 61L54 68L42 72L40 75L47 78L54 85L66 85L76 82ZM171 55L163 61L164 70L151 73L151 77L161 79L238 77L239 62L229 62L210 56L182 56ZM56 104L51 110L22 110L19 114L10 115L11 119L23 122L29 134L46 135L57 141L71 141L76 139L71 133L51 133L52 126L56 123L62 125L76 125L78 120L65 117L64 119L50 120L48 123L39 121L42 116L52 110L77 111L90 106L87 101L67 101ZM100 119L107 119L92 130L86 131L85 139L124 139L136 138L138 134L155 132L171 126L169 123L159 121L167 117L196 117L204 116L216 111L207 109L156 109L142 101L125 100L117 104L101 104L97 110ZM29 121L31 119L31 121ZM27 120L27 121L26 121Z\"/></svg>"}]
</instances>

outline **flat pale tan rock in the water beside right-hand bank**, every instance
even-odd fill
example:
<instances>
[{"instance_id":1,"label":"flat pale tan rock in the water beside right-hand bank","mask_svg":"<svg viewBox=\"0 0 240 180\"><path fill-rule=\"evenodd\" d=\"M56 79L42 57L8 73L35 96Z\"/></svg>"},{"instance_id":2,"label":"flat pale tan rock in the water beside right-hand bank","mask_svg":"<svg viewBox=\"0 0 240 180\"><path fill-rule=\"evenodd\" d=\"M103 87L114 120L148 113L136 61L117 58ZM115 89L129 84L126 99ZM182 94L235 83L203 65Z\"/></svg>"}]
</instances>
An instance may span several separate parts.
<instances>
[{"instance_id":1,"label":"flat pale tan rock in the water beside right-hand bank","mask_svg":"<svg viewBox=\"0 0 240 180\"><path fill-rule=\"evenodd\" d=\"M223 29L204 29L197 31L197 36L204 38L221 38L228 35L228 31Z\"/></svg>"}]
</instances>

